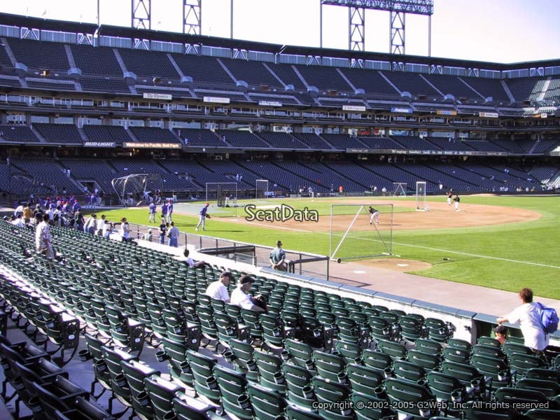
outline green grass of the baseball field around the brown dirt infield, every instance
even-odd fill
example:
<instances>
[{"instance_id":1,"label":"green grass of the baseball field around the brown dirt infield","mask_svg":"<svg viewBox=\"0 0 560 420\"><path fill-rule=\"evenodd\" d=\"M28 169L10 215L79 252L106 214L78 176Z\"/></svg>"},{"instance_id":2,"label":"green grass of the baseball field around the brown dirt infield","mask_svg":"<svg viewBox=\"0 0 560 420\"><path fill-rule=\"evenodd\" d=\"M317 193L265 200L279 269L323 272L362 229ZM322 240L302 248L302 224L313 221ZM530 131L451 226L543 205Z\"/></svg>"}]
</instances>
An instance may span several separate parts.
<instances>
[{"instance_id":1,"label":"green grass of the baseball field around the brown dirt infield","mask_svg":"<svg viewBox=\"0 0 560 420\"><path fill-rule=\"evenodd\" d=\"M387 197L394 200L394 197ZM363 202L382 202L381 197L364 198ZM409 197L405 200L414 200ZM428 201L430 199L428 198ZM442 197L433 200L442 200ZM270 200L267 204L290 204L297 209L317 209L320 217L328 217L330 204L325 199ZM476 284L500 290L517 292L522 287L531 287L540 296L560 299L560 288L556 279L560 274L557 246L560 237L560 197L463 197L463 202L504 207L516 207L538 211L538 221L506 223L503 225L452 228L438 230L394 230L393 253L408 260L421 260L432 264L430 269L415 272L422 276L446 279L461 283ZM248 204L249 202L239 202ZM197 223L195 211L200 204L193 204L193 216L174 216L174 221L183 232L193 232ZM211 209L218 215L218 209ZM219 209L234 214L234 209ZM178 210L177 210L178 211ZM244 209L237 209L244 217ZM384 211L384 207L381 207ZM395 205L395 213L412 211ZM105 212L111 220L126 216L131 223L147 225L146 209L121 209ZM281 227L281 223L276 223ZM207 235L273 246L282 239L288 249L327 255L329 232L297 232L277 230L262 226L211 219ZM443 258L449 258L443 260Z\"/></svg>"}]
</instances>

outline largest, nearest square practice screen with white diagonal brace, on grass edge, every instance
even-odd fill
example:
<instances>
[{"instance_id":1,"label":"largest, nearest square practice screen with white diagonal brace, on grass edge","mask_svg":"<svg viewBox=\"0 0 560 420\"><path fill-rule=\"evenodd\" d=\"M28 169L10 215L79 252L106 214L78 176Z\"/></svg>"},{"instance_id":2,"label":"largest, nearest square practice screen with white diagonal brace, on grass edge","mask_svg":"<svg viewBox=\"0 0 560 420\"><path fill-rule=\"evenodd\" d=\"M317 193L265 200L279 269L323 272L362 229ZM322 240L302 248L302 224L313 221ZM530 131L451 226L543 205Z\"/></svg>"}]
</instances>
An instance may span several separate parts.
<instances>
[{"instance_id":1,"label":"largest, nearest square practice screen with white diagonal brace, on grass edge","mask_svg":"<svg viewBox=\"0 0 560 420\"><path fill-rule=\"evenodd\" d=\"M338 261L393 255L393 204L331 204L329 255Z\"/></svg>"}]
</instances>

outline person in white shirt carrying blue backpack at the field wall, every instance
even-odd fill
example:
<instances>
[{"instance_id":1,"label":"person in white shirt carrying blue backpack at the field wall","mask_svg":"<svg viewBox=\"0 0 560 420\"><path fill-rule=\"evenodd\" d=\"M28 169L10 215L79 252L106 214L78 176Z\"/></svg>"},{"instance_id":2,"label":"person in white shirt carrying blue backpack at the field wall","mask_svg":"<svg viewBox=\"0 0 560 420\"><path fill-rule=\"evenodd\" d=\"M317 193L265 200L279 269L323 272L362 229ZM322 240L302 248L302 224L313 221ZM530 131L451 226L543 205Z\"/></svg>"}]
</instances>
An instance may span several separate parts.
<instances>
[{"instance_id":1,"label":"person in white shirt carrying blue backpack at the field wall","mask_svg":"<svg viewBox=\"0 0 560 420\"><path fill-rule=\"evenodd\" d=\"M546 309L551 308L545 308L542 304L533 302L533 290L530 288L521 289L519 298L521 299L521 305L513 309L509 315L498 318L496 321L500 325L506 322L519 323L525 345L531 347L535 353L540 354L548 346L549 333L558 328L558 318L556 316L556 327L554 327L551 323L551 316L546 311ZM556 311L554 311L554 314L556 314ZM544 323L543 319L545 319Z\"/></svg>"}]
</instances>

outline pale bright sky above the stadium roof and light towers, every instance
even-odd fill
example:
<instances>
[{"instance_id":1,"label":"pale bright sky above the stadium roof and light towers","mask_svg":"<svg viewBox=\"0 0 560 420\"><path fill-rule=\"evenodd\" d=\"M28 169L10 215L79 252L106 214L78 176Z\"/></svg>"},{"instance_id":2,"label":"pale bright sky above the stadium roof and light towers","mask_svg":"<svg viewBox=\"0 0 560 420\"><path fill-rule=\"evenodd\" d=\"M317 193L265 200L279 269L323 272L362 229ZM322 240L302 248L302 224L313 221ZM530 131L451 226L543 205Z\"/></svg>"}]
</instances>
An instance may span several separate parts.
<instances>
[{"instance_id":1,"label":"pale bright sky above the stadium roof and light towers","mask_svg":"<svg viewBox=\"0 0 560 420\"><path fill-rule=\"evenodd\" d=\"M2 1L2 11L97 22L97 0ZM319 45L319 0L233 0L234 38ZM183 0L152 0L152 29L181 31ZM99 0L100 20L130 26L130 0ZM491 62L560 59L559 0L434 0L433 57ZM389 51L389 13L367 10L365 49ZM407 15L405 52L428 55L428 18ZM202 34L230 36L230 0L202 0ZM323 6L323 46L347 49L348 9Z\"/></svg>"}]
</instances>

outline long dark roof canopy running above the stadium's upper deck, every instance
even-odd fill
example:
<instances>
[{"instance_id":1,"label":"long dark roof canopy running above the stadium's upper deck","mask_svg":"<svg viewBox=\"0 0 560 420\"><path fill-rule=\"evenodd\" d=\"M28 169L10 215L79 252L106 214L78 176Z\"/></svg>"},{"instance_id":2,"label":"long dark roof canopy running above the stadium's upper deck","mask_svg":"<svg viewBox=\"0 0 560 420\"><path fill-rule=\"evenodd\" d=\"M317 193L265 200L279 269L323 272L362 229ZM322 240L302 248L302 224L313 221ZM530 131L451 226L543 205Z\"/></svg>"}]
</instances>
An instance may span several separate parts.
<instances>
[{"instance_id":1,"label":"long dark roof canopy running above the stadium's upper deck","mask_svg":"<svg viewBox=\"0 0 560 420\"><path fill-rule=\"evenodd\" d=\"M62 20L51 20L41 18L29 18L21 15L0 13L0 25L25 27L29 29L41 29L45 31L65 31L81 34L94 34L97 25L90 23L76 23ZM113 25L101 25L97 32L99 36L113 36L119 38L142 39L148 41L160 41L169 43L181 43L189 45L206 45L209 47L230 48L237 50L248 50L258 52L269 52L271 54L303 55L307 57L331 57L344 59L363 59L379 62L399 62L409 64L426 64L428 66L456 66L472 69L486 69L494 71L511 71L517 69L528 69L538 67L560 66L559 59L549 59L533 62L496 63L482 62L468 59L451 59L444 57L424 57L421 55L399 55L383 52L367 52L355 50L339 50L335 48L313 48L297 45L281 45L274 43L261 43L257 41L245 41L232 38L218 38L215 36L181 34L179 32L155 31L153 29L135 29L132 27L118 27Z\"/></svg>"}]
</instances>

